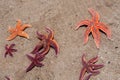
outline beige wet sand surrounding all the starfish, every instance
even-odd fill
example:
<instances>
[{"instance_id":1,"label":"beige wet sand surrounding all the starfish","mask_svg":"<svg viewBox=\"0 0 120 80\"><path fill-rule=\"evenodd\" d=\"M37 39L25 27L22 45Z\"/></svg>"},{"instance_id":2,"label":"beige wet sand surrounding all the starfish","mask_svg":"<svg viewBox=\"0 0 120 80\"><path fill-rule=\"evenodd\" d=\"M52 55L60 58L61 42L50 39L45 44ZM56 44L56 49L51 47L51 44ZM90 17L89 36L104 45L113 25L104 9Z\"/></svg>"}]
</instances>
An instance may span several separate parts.
<instances>
[{"instance_id":1,"label":"beige wet sand surrounding all the starfish","mask_svg":"<svg viewBox=\"0 0 120 80\"><path fill-rule=\"evenodd\" d=\"M86 28L74 31L77 22L91 18L88 8L98 11L101 22L112 31L111 40L101 33L100 49L91 35L83 45ZM17 37L6 41L8 26L14 27L17 19L32 25L25 30L30 39ZM31 63L26 54L39 42L35 32L46 34L45 26L54 30L60 53L56 58L51 48L43 61L45 66L26 73ZM16 44L18 52L13 58L4 58L4 46L11 43ZM120 0L0 0L0 80L5 80L4 76L11 80L79 80L83 53L87 53L87 59L98 55L98 63L105 65L90 80L120 80Z\"/></svg>"}]
</instances>

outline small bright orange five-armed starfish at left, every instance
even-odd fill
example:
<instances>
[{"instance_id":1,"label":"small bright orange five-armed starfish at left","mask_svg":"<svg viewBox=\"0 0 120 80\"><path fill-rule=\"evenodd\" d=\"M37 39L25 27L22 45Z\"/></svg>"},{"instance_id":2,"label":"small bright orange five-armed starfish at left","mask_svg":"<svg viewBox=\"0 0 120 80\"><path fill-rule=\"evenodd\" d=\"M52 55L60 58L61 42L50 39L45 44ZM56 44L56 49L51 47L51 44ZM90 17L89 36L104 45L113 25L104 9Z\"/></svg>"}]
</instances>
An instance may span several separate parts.
<instances>
[{"instance_id":1,"label":"small bright orange five-armed starfish at left","mask_svg":"<svg viewBox=\"0 0 120 80\"><path fill-rule=\"evenodd\" d=\"M8 31L11 33L11 35L7 38L7 40L12 40L16 36L22 36L25 38L29 38L29 35L23 31L25 28L28 28L28 27L31 27L31 25L29 24L22 25L21 20L17 20L16 28L9 27Z\"/></svg>"}]
</instances>

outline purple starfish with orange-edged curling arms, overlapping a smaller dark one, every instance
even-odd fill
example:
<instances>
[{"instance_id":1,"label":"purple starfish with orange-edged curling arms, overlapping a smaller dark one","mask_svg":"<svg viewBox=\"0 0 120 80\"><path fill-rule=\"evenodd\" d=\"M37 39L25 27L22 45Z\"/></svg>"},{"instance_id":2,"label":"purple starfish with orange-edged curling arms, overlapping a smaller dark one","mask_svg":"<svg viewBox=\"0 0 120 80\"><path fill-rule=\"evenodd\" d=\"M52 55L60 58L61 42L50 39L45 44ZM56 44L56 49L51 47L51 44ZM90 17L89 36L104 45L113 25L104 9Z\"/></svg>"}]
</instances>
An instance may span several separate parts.
<instances>
[{"instance_id":1,"label":"purple starfish with orange-edged curling arms, overlapping a smaller dark one","mask_svg":"<svg viewBox=\"0 0 120 80\"><path fill-rule=\"evenodd\" d=\"M58 46L57 42L54 40L53 31L50 28L46 28L46 31L49 33L48 36L40 34L39 32L37 32L38 38L42 42L39 43L31 53L33 53L33 54L39 53L39 54L43 54L43 55L47 54L49 49L50 49L50 46L51 46L55 49L56 55L58 54L59 46Z\"/></svg>"}]
</instances>

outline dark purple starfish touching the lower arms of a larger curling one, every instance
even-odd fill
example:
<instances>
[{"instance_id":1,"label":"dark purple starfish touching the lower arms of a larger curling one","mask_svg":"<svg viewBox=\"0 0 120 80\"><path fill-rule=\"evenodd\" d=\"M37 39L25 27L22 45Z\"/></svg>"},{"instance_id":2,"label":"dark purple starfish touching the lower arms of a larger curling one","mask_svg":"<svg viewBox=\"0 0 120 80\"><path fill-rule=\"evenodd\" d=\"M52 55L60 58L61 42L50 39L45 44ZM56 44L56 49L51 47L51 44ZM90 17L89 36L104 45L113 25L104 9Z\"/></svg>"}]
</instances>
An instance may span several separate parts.
<instances>
[{"instance_id":1,"label":"dark purple starfish touching the lower arms of a larger curling one","mask_svg":"<svg viewBox=\"0 0 120 80\"><path fill-rule=\"evenodd\" d=\"M44 64L41 63L41 61L44 60L45 56L39 56L36 54L35 57L32 57L30 55L27 55L27 57L29 58L29 60L32 61L32 63L29 65L29 67L26 69L26 72L29 72L30 70L32 70L35 66L37 67L42 67L44 66Z\"/></svg>"}]
</instances>

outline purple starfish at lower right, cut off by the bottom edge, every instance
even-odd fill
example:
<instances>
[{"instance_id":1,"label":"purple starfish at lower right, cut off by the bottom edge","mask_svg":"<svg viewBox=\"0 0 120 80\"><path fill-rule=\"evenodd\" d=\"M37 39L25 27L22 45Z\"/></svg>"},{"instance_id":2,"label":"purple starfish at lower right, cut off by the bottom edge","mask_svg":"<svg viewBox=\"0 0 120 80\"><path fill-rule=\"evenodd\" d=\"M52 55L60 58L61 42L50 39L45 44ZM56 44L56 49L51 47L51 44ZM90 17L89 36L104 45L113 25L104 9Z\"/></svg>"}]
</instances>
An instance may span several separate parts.
<instances>
[{"instance_id":1,"label":"purple starfish at lower right, cut off by the bottom edge","mask_svg":"<svg viewBox=\"0 0 120 80\"><path fill-rule=\"evenodd\" d=\"M97 65L96 65L95 63L96 63L97 61L98 61L98 56L90 59L90 60L87 62L86 59L85 59L85 54L83 54L83 56L82 56L83 68L82 68L82 70L81 70L79 80L83 80L84 75L85 75L86 72L89 73L89 75L87 76L87 78L86 78L85 80L89 80L89 78L90 78L92 75L97 75L97 74L100 73L97 69L102 68L104 65L102 65L102 64L97 64Z\"/></svg>"}]
</instances>

